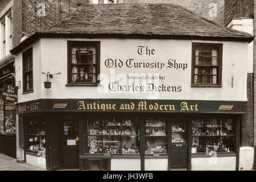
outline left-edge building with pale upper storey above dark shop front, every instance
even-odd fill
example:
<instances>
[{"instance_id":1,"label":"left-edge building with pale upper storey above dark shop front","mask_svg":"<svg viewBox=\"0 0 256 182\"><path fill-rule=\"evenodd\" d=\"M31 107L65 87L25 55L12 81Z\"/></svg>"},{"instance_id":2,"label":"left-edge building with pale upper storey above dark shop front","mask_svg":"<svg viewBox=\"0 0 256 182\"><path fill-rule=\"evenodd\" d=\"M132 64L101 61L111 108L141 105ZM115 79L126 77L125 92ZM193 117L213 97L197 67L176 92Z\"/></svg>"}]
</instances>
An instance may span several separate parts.
<instances>
[{"instance_id":1,"label":"left-edge building with pale upper storey above dark shop front","mask_svg":"<svg viewBox=\"0 0 256 182\"><path fill-rule=\"evenodd\" d=\"M6 85L15 88L13 48L13 3L0 2L0 153L16 157L15 100L6 97ZM17 93L15 93L17 96Z\"/></svg>"}]
</instances>

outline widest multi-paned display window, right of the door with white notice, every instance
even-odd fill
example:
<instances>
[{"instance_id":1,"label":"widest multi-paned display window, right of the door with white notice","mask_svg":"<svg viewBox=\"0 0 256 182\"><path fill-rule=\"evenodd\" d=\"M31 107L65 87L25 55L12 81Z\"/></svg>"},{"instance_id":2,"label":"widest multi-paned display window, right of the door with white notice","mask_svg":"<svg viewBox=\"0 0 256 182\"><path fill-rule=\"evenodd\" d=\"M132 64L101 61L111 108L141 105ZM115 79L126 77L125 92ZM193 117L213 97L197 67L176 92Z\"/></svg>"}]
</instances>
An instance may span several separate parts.
<instances>
[{"instance_id":1,"label":"widest multi-paned display window, right of the door with white notice","mask_svg":"<svg viewBox=\"0 0 256 182\"><path fill-rule=\"evenodd\" d=\"M89 118L89 154L139 155L139 126L134 118Z\"/></svg>"}]
</instances>

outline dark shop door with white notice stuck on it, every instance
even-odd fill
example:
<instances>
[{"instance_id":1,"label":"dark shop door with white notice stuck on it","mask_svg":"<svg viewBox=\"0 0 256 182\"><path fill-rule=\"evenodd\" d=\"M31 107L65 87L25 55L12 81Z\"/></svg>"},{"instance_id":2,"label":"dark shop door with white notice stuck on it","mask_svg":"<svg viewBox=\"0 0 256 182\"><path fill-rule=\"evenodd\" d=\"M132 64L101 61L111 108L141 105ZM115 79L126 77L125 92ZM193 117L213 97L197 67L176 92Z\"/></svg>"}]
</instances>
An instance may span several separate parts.
<instances>
[{"instance_id":1,"label":"dark shop door with white notice stuck on it","mask_svg":"<svg viewBox=\"0 0 256 182\"><path fill-rule=\"evenodd\" d=\"M78 122L67 119L63 123L63 168L79 168Z\"/></svg>"}]
</instances>

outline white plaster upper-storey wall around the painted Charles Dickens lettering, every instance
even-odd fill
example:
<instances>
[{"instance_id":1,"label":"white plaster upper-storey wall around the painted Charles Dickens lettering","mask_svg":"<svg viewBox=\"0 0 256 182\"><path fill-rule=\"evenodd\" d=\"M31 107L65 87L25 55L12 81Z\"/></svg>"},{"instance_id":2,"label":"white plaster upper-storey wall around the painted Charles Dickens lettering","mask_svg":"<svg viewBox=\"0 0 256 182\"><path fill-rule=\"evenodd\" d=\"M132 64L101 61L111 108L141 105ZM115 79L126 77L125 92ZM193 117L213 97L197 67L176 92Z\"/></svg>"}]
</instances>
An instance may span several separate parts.
<instances>
[{"instance_id":1,"label":"white plaster upper-storey wall around the painted Charles Dickens lettering","mask_svg":"<svg viewBox=\"0 0 256 182\"><path fill-rule=\"evenodd\" d=\"M95 86L67 87L67 40L85 40L101 42L101 81L119 81L119 77L127 77L130 73L159 73L165 77L164 85L181 86L181 92L147 92L147 93L101 93ZM247 101L247 42L209 42L223 43L222 87L221 88L193 88L191 87L191 52L193 42L198 40L143 40L143 39L58 39L42 38L33 43L33 77L34 92L22 94L19 89L19 102L36 100L39 98L133 98L159 100L206 100L206 101ZM137 47L147 46L155 49L155 55L138 55ZM162 70L158 68L106 68L106 59L127 59L165 64ZM183 69L167 69L167 61L176 60L187 64ZM22 82L22 52L15 58L17 69L16 81ZM52 88L47 90L43 86L46 76L42 72L59 73L50 81ZM112 74L114 73L114 74ZM111 75L112 74L112 75ZM111 80L106 80L109 78ZM232 86L233 79L233 86ZM101 82L101 86L104 85ZM122 82L120 82L122 83ZM127 85L125 81L124 84ZM106 86L106 85L105 85Z\"/></svg>"}]
</instances>

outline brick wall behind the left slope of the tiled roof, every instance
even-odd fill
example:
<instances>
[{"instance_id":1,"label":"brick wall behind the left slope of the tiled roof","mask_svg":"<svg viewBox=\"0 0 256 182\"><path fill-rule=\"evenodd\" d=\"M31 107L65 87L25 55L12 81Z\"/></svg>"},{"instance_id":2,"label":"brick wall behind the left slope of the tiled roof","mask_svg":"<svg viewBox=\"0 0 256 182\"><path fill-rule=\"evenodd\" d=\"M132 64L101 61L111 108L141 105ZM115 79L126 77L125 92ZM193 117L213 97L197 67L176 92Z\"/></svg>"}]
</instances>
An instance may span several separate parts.
<instances>
[{"instance_id":1,"label":"brick wall behind the left slope of the tiled roof","mask_svg":"<svg viewBox=\"0 0 256 182\"><path fill-rule=\"evenodd\" d=\"M23 36L37 31L45 31L77 9L77 4L87 4L89 0L14 0L14 38L17 46ZM39 3L45 4L45 16L39 16Z\"/></svg>"}]
</instances>

